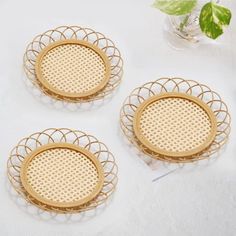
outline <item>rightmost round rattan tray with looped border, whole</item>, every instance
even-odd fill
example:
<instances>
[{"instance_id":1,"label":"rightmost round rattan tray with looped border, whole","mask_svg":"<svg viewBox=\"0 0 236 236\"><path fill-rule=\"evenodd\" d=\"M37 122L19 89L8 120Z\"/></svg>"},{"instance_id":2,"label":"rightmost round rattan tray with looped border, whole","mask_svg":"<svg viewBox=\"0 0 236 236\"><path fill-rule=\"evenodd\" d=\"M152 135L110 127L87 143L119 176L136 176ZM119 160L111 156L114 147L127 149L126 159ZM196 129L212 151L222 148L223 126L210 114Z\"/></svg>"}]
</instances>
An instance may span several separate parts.
<instances>
[{"instance_id":1,"label":"rightmost round rattan tray with looped border, whole","mask_svg":"<svg viewBox=\"0 0 236 236\"><path fill-rule=\"evenodd\" d=\"M121 127L152 158L192 162L209 157L226 142L230 116L207 86L162 78L131 93L121 110Z\"/></svg>"}]
</instances>

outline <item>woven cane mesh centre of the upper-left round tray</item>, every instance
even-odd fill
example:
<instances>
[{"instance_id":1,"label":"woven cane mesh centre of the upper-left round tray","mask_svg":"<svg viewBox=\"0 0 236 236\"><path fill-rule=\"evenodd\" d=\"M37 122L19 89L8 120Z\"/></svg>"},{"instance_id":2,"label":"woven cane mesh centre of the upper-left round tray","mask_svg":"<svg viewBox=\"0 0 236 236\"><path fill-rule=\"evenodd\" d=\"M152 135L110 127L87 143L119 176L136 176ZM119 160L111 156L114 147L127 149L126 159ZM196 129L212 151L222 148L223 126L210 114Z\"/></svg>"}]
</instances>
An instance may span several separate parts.
<instances>
[{"instance_id":1,"label":"woven cane mesh centre of the upper-left round tray","mask_svg":"<svg viewBox=\"0 0 236 236\"><path fill-rule=\"evenodd\" d=\"M95 89L104 80L106 67L98 53L79 44L51 49L41 61L43 79L53 88L74 94Z\"/></svg>"}]
</instances>

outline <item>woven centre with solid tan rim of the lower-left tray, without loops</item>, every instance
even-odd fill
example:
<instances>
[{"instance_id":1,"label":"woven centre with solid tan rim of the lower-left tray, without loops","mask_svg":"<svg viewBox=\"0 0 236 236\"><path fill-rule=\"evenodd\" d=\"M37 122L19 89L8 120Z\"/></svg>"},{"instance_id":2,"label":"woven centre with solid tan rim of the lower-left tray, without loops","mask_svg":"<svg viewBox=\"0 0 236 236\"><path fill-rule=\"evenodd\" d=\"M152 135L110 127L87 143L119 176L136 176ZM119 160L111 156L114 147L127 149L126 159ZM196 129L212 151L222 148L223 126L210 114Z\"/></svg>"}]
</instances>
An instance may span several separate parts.
<instances>
[{"instance_id":1,"label":"woven centre with solid tan rim of the lower-left tray, without loops","mask_svg":"<svg viewBox=\"0 0 236 236\"><path fill-rule=\"evenodd\" d=\"M86 149L57 143L44 145L26 157L21 182L36 200L53 207L78 207L101 191L104 174Z\"/></svg>"}]
</instances>

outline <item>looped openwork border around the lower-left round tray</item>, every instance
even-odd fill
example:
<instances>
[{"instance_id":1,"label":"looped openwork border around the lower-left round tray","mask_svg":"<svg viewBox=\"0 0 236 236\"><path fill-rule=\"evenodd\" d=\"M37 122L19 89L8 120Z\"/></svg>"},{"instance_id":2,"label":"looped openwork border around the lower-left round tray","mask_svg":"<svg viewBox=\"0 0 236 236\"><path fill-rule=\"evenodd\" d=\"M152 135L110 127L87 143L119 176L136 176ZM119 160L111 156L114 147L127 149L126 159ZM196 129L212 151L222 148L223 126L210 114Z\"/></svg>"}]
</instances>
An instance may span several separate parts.
<instances>
[{"instance_id":1,"label":"looped openwork border around the lower-left round tray","mask_svg":"<svg viewBox=\"0 0 236 236\"><path fill-rule=\"evenodd\" d=\"M22 184L21 168L27 157L34 151L47 145L72 145L79 150L85 150L97 158L102 167L103 184L101 191L89 202L78 206L51 206L45 202L38 201ZM24 165L23 165L24 166ZM94 136L87 135L84 132L62 129L47 129L42 132L34 133L27 138L22 139L18 145L13 148L7 162L8 177L13 188L29 203L38 206L46 211L57 213L77 213L92 210L97 206L104 204L109 196L114 192L117 185L117 165L112 153L105 144L99 142ZM99 187L98 187L99 188Z\"/></svg>"}]
</instances>

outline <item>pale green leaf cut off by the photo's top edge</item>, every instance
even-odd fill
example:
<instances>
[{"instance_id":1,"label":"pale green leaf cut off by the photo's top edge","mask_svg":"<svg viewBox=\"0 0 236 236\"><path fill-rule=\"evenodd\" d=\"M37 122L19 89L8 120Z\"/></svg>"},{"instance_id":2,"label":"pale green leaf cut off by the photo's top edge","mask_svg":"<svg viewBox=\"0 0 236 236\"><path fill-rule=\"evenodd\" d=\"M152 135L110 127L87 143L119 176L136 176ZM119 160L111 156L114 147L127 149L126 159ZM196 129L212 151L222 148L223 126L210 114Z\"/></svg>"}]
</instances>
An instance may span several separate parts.
<instances>
[{"instance_id":1,"label":"pale green leaf cut off by the photo's top edge","mask_svg":"<svg viewBox=\"0 0 236 236\"><path fill-rule=\"evenodd\" d=\"M168 15L185 15L196 6L197 0L156 0L153 6Z\"/></svg>"}]
</instances>

